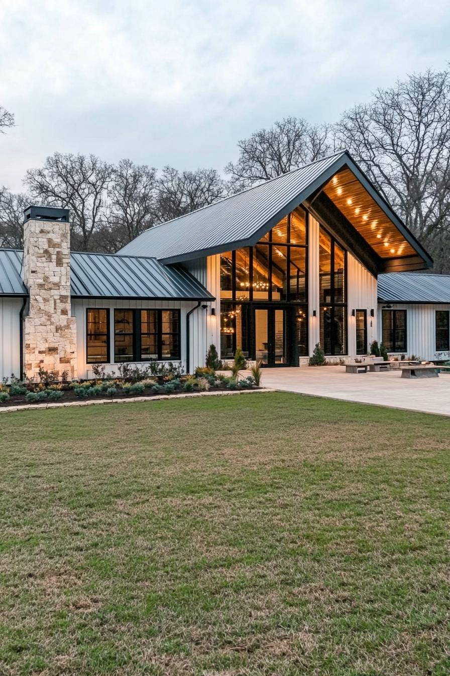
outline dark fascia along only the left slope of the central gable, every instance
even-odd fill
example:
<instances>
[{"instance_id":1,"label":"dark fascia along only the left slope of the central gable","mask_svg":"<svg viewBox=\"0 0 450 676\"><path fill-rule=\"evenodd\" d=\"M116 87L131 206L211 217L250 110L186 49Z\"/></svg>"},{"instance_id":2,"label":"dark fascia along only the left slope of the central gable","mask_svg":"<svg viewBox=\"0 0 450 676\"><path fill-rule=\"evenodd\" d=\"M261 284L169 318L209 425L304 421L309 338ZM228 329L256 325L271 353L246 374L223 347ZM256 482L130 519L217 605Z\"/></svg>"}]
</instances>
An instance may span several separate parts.
<instances>
[{"instance_id":1,"label":"dark fascia along only the left slope of the central gable","mask_svg":"<svg viewBox=\"0 0 450 676\"><path fill-rule=\"evenodd\" d=\"M345 158L346 153L339 155L335 162L329 166L320 176L312 181L307 188L302 190L296 197L293 197L275 216L270 218L264 223L252 237L247 239L240 239L237 241L231 241L227 244L217 245L215 247L206 247L206 249L196 249L196 251L189 251L187 254L179 254L178 256L169 256L168 258L159 258L162 263L181 263L186 260L192 260L194 258L202 258L203 256L214 256L215 254L223 254L224 251L230 251L231 249L241 249L242 247L252 247L258 241L260 241L262 235L265 235L273 226L275 226L281 218L287 216L291 211L296 207L300 206L302 202L307 199L311 193L314 193L317 189L325 185L327 181L330 180L332 176L346 163ZM261 184L262 185L262 184Z\"/></svg>"}]
</instances>

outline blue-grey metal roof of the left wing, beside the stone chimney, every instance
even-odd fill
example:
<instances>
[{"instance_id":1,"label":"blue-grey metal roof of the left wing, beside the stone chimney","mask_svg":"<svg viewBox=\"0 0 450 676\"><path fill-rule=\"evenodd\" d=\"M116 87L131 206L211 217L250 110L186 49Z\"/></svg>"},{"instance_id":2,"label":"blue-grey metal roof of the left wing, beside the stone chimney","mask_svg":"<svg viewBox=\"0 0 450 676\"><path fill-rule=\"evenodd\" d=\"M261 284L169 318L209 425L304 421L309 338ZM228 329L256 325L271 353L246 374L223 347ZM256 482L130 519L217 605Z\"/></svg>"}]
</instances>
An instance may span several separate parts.
<instances>
[{"instance_id":1,"label":"blue-grey metal roof of the left wing, beside the stone chimney","mask_svg":"<svg viewBox=\"0 0 450 676\"><path fill-rule=\"evenodd\" d=\"M0 249L0 295L28 295L23 251ZM70 254L72 297L213 300L200 282L179 266L155 258L115 254Z\"/></svg>"}]
</instances>

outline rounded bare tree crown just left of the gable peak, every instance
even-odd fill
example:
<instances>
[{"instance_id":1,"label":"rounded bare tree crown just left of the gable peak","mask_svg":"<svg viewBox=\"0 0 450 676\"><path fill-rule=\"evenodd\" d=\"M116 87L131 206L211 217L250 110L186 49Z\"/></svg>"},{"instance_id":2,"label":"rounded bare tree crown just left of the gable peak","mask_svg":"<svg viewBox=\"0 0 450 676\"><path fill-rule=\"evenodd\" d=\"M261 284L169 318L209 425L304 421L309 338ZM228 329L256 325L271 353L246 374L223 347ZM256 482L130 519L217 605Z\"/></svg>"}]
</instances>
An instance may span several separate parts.
<instances>
[{"instance_id":1,"label":"rounded bare tree crown just left of the gable peak","mask_svg":"<svg viewBox=\"0 0 450 676\"><path fill-rule=\"evenodd\" d=\"M233 190L242 190L325 157L331 151L329 126L310 125L303 118L284 118L239 141L240 155L229 162Z\"/></svg>"}]
</instances>

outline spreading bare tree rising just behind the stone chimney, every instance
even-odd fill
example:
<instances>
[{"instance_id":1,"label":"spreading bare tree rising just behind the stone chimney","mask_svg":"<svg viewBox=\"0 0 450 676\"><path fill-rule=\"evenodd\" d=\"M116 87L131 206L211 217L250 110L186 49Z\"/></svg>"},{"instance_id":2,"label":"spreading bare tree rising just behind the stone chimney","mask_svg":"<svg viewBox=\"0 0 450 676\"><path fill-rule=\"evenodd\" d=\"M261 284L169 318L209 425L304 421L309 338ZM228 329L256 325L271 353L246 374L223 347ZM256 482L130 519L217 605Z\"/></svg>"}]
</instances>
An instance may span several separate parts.
<instances>
[{"instance_id":1,"label":"spreading bare tree rising just behind the stone chimney","mask_svg":"<svg viewBox=\"0 0 450 676\"><path fill-rule=\"evenodd\" d=\"M88 251L92 234L105 222L113 167L95 155L55 153L41 169L29 169L24 183L49 206L68 207L73 248Z\"/></svg>"}]
</instances>

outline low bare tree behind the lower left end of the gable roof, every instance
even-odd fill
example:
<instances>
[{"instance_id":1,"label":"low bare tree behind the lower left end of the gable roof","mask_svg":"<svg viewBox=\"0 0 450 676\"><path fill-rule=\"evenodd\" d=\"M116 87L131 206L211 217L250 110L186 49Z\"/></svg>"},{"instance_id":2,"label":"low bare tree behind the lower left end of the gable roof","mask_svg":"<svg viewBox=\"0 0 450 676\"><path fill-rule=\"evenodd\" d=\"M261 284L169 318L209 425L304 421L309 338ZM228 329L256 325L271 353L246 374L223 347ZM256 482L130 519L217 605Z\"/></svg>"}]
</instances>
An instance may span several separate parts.
<instances>
[{"instance_id":1,"label":"low bare tree behind the lower left end of the gable roof","mask_svg":"<svg viewBox=\"0 0 450 676\"><path fill-rule=\"evenodd\" d=\"M215 169L179 172L166 166L158 183L159 220L183 216L226 195L225 181Z\"/></svg>"}]
</instances>

